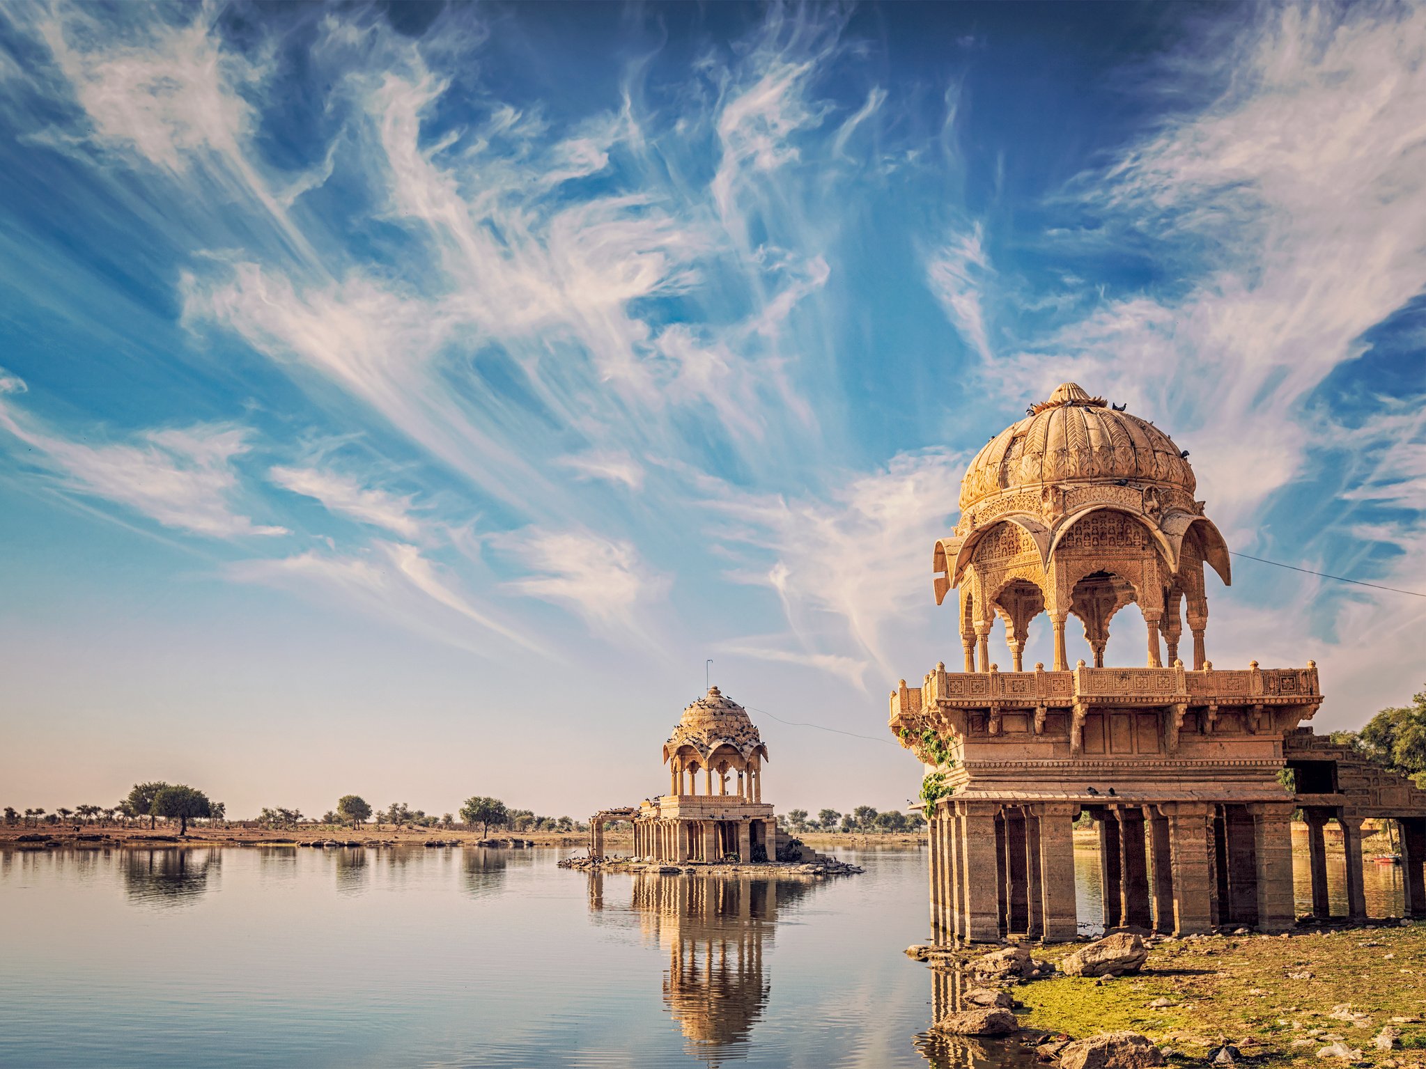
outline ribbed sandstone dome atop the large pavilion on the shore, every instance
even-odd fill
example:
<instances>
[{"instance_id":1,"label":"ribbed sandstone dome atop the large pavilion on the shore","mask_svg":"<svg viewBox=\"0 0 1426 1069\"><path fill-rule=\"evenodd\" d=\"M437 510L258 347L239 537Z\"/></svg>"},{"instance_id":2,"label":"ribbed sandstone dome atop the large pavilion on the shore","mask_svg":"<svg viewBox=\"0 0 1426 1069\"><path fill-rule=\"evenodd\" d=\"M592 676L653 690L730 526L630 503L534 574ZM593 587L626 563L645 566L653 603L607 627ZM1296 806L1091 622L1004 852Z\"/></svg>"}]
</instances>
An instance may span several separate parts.
<instances>
[{"instance_id":1,"label":"ribbed sandstone dome atop the large pavilion on the shore","mask_svg":"<svg viewBox=\"0 0 1426 1069\"><path fill-rule=\"evenodd\" d=\"M965 472L961 509L1044 483L1114 482L1172 486L1192 495L1194 469L1168 435L1064 382L1031 415L992 438Z\"/></svg>"}]
</instances>

